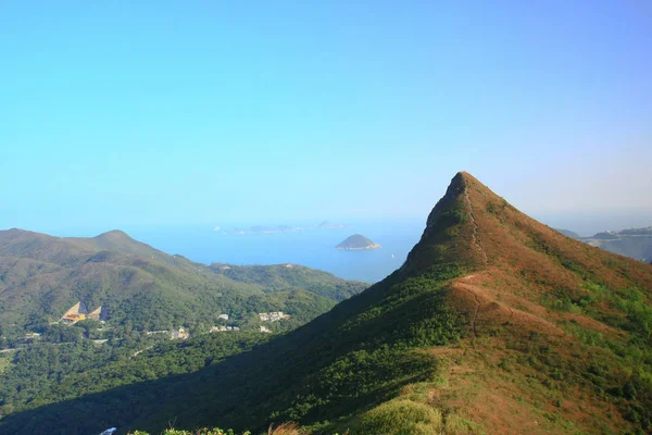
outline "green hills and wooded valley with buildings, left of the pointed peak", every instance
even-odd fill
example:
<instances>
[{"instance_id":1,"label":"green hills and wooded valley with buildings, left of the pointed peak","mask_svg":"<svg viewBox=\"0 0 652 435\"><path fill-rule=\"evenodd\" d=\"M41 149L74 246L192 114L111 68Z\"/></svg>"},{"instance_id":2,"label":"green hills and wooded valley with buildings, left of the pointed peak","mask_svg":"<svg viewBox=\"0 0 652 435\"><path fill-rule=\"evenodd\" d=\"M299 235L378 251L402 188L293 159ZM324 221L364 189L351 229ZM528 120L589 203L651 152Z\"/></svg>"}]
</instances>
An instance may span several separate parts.
<instances>
[{"instance_id":1,"label":"green hills and wooded valley with buildings, left of the pointed peak","mask_svg":"<svg viewBox=\"0 0 652 435\"><path fill-rule=\"evenodd\" d=\"M0 417L198 371L268 339L262 324L291 331L366 287L302 266L233 266L229 277L120 232L92 239L0 232ZM108 308L106 323L55 323L78 300ZM289 318L261 322L258 313L271 311ZM206 335L220 325L241 332ZM178 327L193 338L147 334Z\"/></svg>"}]
</instances>

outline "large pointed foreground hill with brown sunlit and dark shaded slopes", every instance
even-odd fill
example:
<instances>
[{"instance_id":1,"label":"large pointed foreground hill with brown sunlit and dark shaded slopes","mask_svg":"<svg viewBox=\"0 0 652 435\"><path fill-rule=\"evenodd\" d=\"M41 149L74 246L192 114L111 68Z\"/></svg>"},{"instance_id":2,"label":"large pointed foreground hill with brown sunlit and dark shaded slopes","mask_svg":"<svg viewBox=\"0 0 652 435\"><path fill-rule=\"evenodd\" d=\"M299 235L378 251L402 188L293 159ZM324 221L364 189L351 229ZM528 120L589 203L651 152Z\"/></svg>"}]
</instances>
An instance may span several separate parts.
<instances>
[{"instance_id":1,"label":"large pointed foreground hill with brown sunlit and dark shaded slopes","mask_svg":"<svg viewBox=\"0 0 652 435\"><path fill-rule=\"evenodd\" d=\"M570 239L459 173L404 265L306 325L155 382L77 374L52 391L59 403L0 428L644 433L651 301L649 265Z\"/></svg>"}]
</instances>

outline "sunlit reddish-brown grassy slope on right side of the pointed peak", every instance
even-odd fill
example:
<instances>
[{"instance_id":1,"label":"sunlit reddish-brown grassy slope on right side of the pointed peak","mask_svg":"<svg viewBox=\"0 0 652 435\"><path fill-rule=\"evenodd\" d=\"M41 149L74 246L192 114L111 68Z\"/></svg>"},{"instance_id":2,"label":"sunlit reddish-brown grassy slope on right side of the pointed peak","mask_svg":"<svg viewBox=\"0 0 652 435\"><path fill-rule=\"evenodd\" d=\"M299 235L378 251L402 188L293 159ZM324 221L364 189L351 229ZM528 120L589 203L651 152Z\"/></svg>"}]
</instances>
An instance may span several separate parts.
<instances>
[{"instance_id":1,"label":"sunlit reddish-brown grassy slope on right side of the pointed peak","mask_svg":"<svg viewBox=\"0 0 652 435\"><path fill-rule=\"evenodd\" d=\"M651 345L652 268L567 238L457 177L459 244L426 229L404 269L450 256L473 264L448 299L471 337L428 350L440 383L403 397L440 410L442 424L447 413L465 419L463 433L649 431L652 356L639 349Z\"/></svg>"}]
</instances>

